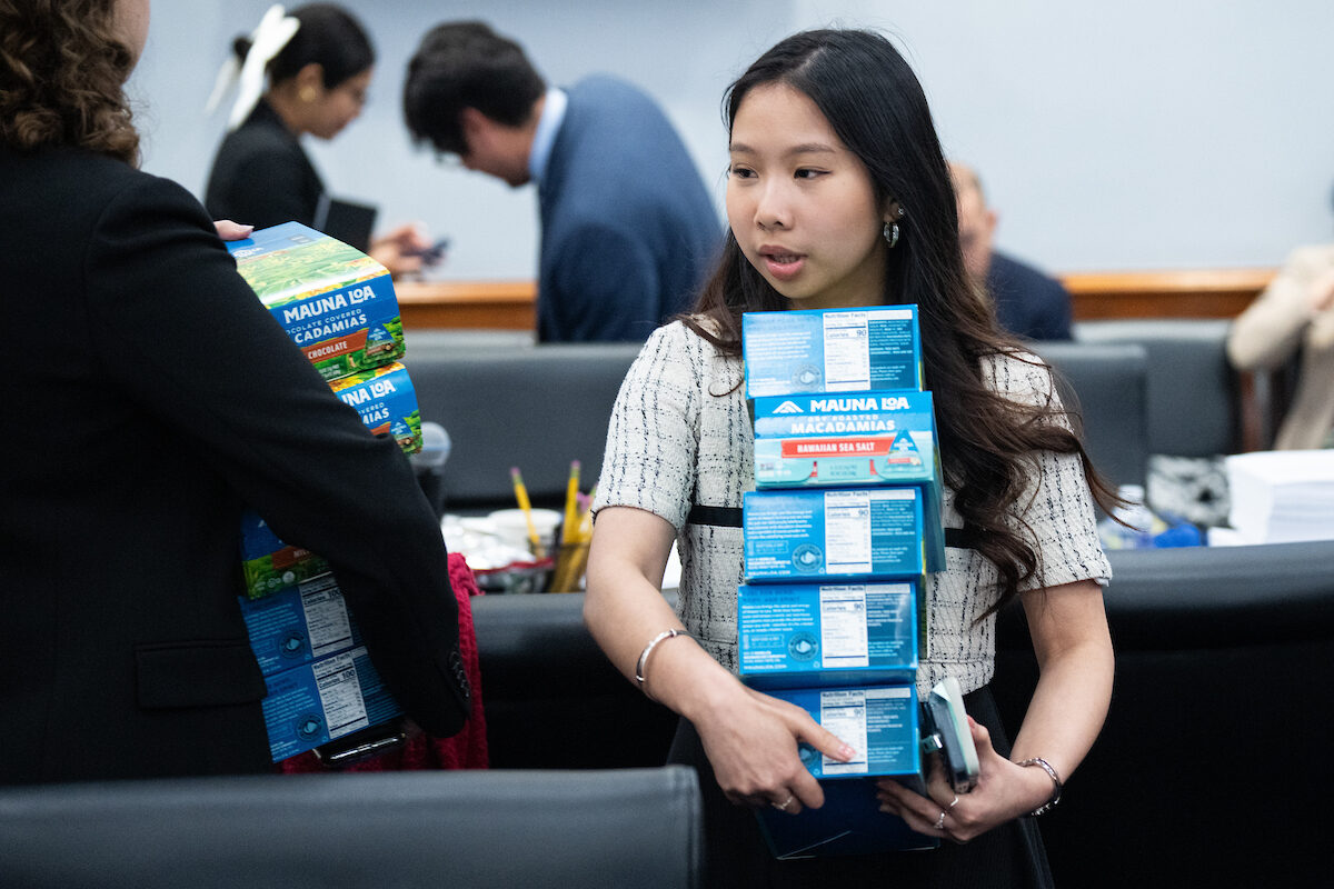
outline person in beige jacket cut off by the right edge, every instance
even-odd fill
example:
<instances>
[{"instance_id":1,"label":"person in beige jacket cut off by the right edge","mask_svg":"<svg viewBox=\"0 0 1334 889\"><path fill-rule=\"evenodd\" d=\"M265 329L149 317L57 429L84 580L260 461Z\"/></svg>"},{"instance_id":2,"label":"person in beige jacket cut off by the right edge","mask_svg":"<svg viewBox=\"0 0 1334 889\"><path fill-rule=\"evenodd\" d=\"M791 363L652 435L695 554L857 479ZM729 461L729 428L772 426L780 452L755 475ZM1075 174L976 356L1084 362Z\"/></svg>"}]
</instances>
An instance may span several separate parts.
<instances>
[{"instance_id":1,"label":"person in beige jacket cut off by the right edge","mask_svg":"<svg viewBox=\"0 0 1334 889\"><path fill-rule=\"evenodd\" d=\"M1238 371L1277 369L1297 356L1297 388L1274 448L1329 448L1334 445L1334 244L1294 249L1227 335L1227 357Z\"/></svg>"}]
</instances>

